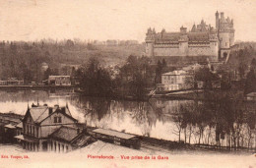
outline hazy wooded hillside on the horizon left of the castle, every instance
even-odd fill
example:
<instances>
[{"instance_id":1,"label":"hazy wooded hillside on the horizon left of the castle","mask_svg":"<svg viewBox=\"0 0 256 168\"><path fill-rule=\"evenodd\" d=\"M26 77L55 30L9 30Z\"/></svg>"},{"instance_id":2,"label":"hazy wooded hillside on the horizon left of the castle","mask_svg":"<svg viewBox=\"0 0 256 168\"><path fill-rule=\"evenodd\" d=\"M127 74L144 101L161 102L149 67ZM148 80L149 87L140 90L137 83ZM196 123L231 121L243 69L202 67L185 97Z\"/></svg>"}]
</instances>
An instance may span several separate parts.
<instances>
[{"instance_id":1,"label":"hazy wooded hillside on the horizon left of the castle","mask_svg":"<svg viewBox=\"0 0 256 168\"><path fill-rule=\"evenodd\" d=\"M62 64L81 65L90 57L101 64L123 63L131 55L139 55L143 45L94 46L81 40L2 41L0 42L0 79L17 78L25 84L41 83L44 77L42 63L54 74L63 75Z\"/></svg>"}]
</instances>

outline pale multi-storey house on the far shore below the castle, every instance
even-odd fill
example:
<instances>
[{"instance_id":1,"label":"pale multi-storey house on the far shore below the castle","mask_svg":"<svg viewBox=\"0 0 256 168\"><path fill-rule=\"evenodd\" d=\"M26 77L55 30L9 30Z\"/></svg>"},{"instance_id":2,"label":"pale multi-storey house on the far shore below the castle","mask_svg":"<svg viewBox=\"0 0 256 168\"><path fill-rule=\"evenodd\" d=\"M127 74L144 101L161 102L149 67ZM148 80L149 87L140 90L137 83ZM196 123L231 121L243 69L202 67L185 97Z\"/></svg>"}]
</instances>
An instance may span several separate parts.
<instances>
[{"instance_id":1,"label":"pale multi-storey house on the far shore below the castle","mask_svg":"<svg viewBox=\"0 0 256 168\"><path fill-rule=\"evenodd\" d=\"M186 89L185 80L188 76L184 70L175 70L161 75L161 84L157 84L158 91L173 91Z\"/></svg>"}]
</instances>

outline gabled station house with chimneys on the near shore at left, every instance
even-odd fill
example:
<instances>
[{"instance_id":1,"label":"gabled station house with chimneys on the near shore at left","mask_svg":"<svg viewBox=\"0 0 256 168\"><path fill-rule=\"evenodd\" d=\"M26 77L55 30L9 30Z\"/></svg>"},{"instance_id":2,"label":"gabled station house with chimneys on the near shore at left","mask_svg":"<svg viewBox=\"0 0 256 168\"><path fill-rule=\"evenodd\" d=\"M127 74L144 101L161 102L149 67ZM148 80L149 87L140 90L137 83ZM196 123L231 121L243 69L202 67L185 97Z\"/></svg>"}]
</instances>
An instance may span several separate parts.
<instances>
[{"instance_id":1,"label":"gabled station house with chimneys on the near shore at left","mask_svg":"<svg viewBox=\"0 0 256 168\"><path fill-rule=\"evenodd\" d=\"M84 142L76 140L83 138ZM23 119L23 135L16 136L25 149L32 151L68 152L75 147L94 141L78 127L68 105L48 107L32 104Z\"/></svg>"}]
</instances>

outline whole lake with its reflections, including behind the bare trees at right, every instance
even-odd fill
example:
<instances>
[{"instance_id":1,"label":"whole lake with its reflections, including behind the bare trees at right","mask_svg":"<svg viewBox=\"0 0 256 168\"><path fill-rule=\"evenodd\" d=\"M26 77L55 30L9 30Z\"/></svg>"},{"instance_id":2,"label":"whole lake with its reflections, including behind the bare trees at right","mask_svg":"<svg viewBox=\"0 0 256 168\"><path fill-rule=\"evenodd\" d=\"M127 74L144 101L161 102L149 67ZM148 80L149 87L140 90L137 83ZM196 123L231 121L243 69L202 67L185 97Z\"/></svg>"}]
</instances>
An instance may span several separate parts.
<instances>
[{"instance_id":1,"label":"whole lake with its reflections, including behind the bare trees at right","mask_svg":"<svg viewBox=\"0 0 256 168\"><path fill-rule=\"evenodd\" d=\"M28 101L69 104L72 115L90 126L164 140L224 146L255 146L255 104L151 99L119 101L50 91L0 91L1 112L25 114ZM56 92L58 94L58 91Z\"/></svg>"}]
</instances>

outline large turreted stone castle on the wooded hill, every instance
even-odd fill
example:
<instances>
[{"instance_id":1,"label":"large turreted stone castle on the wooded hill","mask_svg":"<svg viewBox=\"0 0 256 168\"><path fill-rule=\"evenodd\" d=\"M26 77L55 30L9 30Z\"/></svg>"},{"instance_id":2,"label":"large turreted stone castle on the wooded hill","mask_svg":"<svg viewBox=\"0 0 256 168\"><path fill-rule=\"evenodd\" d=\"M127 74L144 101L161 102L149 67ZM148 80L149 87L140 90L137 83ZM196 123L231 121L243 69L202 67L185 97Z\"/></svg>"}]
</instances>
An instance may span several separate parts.
<instances>
[{"instance_id":1,"label":"large turreted stone castle on the wooded hill","mask_svg":"<svg viewBox=\"0 0 256 168\"><path fill-rule=\"evenodd\" d=\"M216 28L207 25L204 20L193 25L190 31L183 26L180 31L156 32L149 28L146 33L146 55L155 60L168 58L207 58L218 62L225 60L234 44L233 20L224 18L224 13L216 12Z\"/></svg>"}]
</instances>

